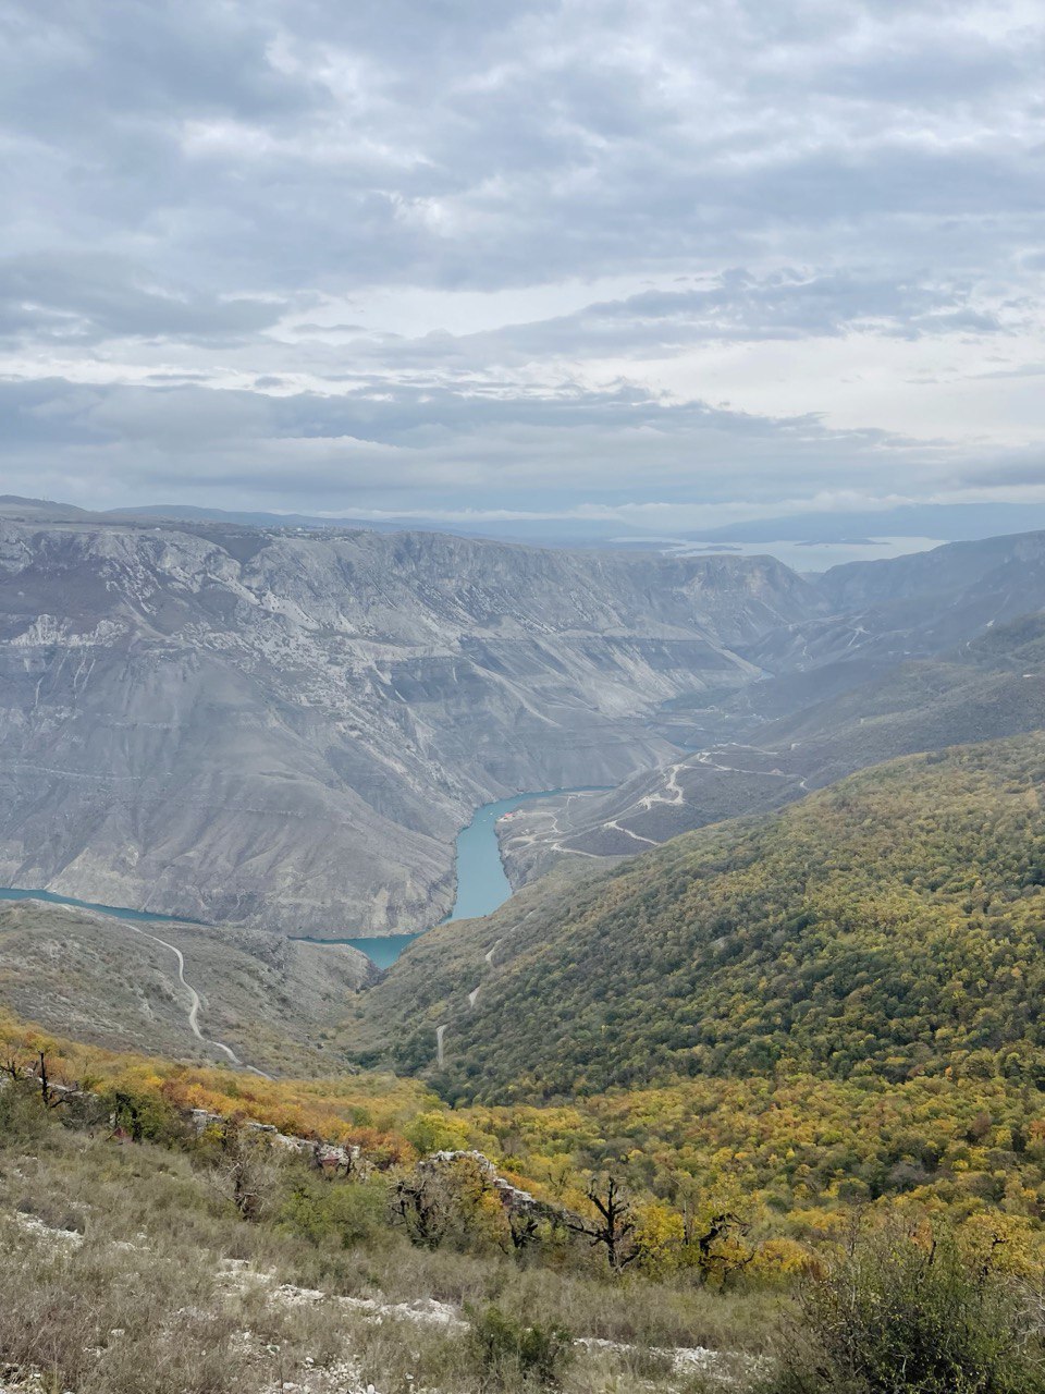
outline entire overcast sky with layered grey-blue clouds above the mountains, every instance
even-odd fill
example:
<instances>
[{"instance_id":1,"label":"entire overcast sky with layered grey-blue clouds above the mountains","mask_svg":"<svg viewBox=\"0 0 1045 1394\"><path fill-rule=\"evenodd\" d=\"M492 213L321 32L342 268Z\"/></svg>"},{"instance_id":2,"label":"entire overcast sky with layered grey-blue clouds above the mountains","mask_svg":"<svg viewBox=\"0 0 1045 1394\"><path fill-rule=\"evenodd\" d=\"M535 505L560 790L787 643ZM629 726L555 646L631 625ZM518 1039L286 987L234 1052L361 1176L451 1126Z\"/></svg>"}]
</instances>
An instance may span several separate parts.
<instances>
[{"instance_id":1,"label":"entire overcast sky with layered grey-blue clouds above the mountains","mask_svg":"<svg viewBox=\"0 0 1045 1394\"><path fill-rule=\"evenodd\" d=\"M3 492L1045 499L1045 8L7 0Z\"/></svg>"}]
</instances>

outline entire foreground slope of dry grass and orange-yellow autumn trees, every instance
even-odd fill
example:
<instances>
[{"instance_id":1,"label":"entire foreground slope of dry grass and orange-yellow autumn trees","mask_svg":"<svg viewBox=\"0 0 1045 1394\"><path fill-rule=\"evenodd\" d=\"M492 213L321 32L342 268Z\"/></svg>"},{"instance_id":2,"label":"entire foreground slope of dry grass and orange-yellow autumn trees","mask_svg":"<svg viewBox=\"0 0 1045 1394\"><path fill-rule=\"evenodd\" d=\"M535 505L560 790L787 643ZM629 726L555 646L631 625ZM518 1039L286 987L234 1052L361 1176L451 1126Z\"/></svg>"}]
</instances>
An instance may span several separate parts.
<instances>
[{"instance_id":1,"label":"entire foreground slope of dry grass and orange-yellow autumn trees","mask_svg":"<svg viewBox=\"0 0 1045 1394\"><path fill-rule=\"evenodd\" d=\"M11 1019L0 1065L18 1394L1042 1388L1045 1119L1003 1080L450 1110L414 1080L277 1083ZM440 1150L470 1146L529 1192Z\"/></svg>"}]
</instances>

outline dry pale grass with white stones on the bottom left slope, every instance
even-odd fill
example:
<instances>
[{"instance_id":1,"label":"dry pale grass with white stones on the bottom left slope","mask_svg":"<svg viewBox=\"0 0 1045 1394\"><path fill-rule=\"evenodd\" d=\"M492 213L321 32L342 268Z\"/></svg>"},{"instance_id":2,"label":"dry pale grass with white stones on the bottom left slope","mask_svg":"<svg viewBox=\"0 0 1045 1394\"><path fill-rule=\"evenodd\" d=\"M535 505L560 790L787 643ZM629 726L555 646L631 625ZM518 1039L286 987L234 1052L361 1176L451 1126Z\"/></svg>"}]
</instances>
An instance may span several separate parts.
<instances>
[{"instance_id":1,"label":"dry pale grass with white stones on the bottom left slope","mask_svg":"<svg viewBox=\"0 0 1045 1394\"><path fill-rule=\"evenodd\" d=\"M199 1157L114 1143L53 1119L0 1138L0 1368L40 1372L43 1388L75 1394L482 1394L467 1330L359 1312L337 1295L436 1299L461 1309L496 1302L510 1316L575 1335L630 1342L582 1349L568 1394L683 1394L659 1345L757 1349L769 1299L610 1282L520 1266L513 1257L412 1248L385 1227L350 1248L291 1232L273 1203L241 1220ZM21 1129L18 1129L21 1132ZM288 1192L301 1168L288 1163ZM330 1185L357 1185L330 1182ZM256 1276L252 1278L251 1276ZM316 1288L297 1301L279 1284ZM768 1337L766 1337L768 1338ZM502 1372L497 1388L524 1387Z\"/></svg>"}]
</instances>

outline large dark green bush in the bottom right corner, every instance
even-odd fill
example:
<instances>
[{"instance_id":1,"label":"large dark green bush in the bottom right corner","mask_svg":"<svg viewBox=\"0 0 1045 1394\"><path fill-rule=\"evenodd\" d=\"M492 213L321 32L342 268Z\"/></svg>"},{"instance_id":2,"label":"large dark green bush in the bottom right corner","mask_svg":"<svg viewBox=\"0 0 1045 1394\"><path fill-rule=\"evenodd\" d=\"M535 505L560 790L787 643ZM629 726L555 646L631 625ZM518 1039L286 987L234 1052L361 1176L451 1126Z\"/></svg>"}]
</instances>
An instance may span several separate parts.
<instances>
[{"instance_id":1,"label":"large dark green bush in the bottom right corner","mask_svg":"<svg viewBox=\"0 0 1045 1394\"><path fill-rule=\"evenodd\" d=\"M1034 1327L989 1259L882 1232L812 1282L762 1394L1039 1394Z\"/></svg>"}]
</instances>

